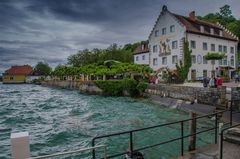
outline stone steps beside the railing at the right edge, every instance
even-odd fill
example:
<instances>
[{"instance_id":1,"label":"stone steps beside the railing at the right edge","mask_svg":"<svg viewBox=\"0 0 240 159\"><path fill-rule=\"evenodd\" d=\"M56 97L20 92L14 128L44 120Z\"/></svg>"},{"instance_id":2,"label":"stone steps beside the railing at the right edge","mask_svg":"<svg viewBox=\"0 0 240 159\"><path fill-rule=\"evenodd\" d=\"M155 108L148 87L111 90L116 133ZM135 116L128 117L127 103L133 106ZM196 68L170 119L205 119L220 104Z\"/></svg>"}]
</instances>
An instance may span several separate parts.
<instances>
[{"instance_id":1,"label":"stone steps beside the railing at the right edge","mask_svg":"<svg viewBox=\"0 0 240 159\"><path fill-rule=\"evenodd\" d=\"M240 128L232 128L227 131L224 140L233 144L240 145Z\"/></svg>"}]
</instances>

